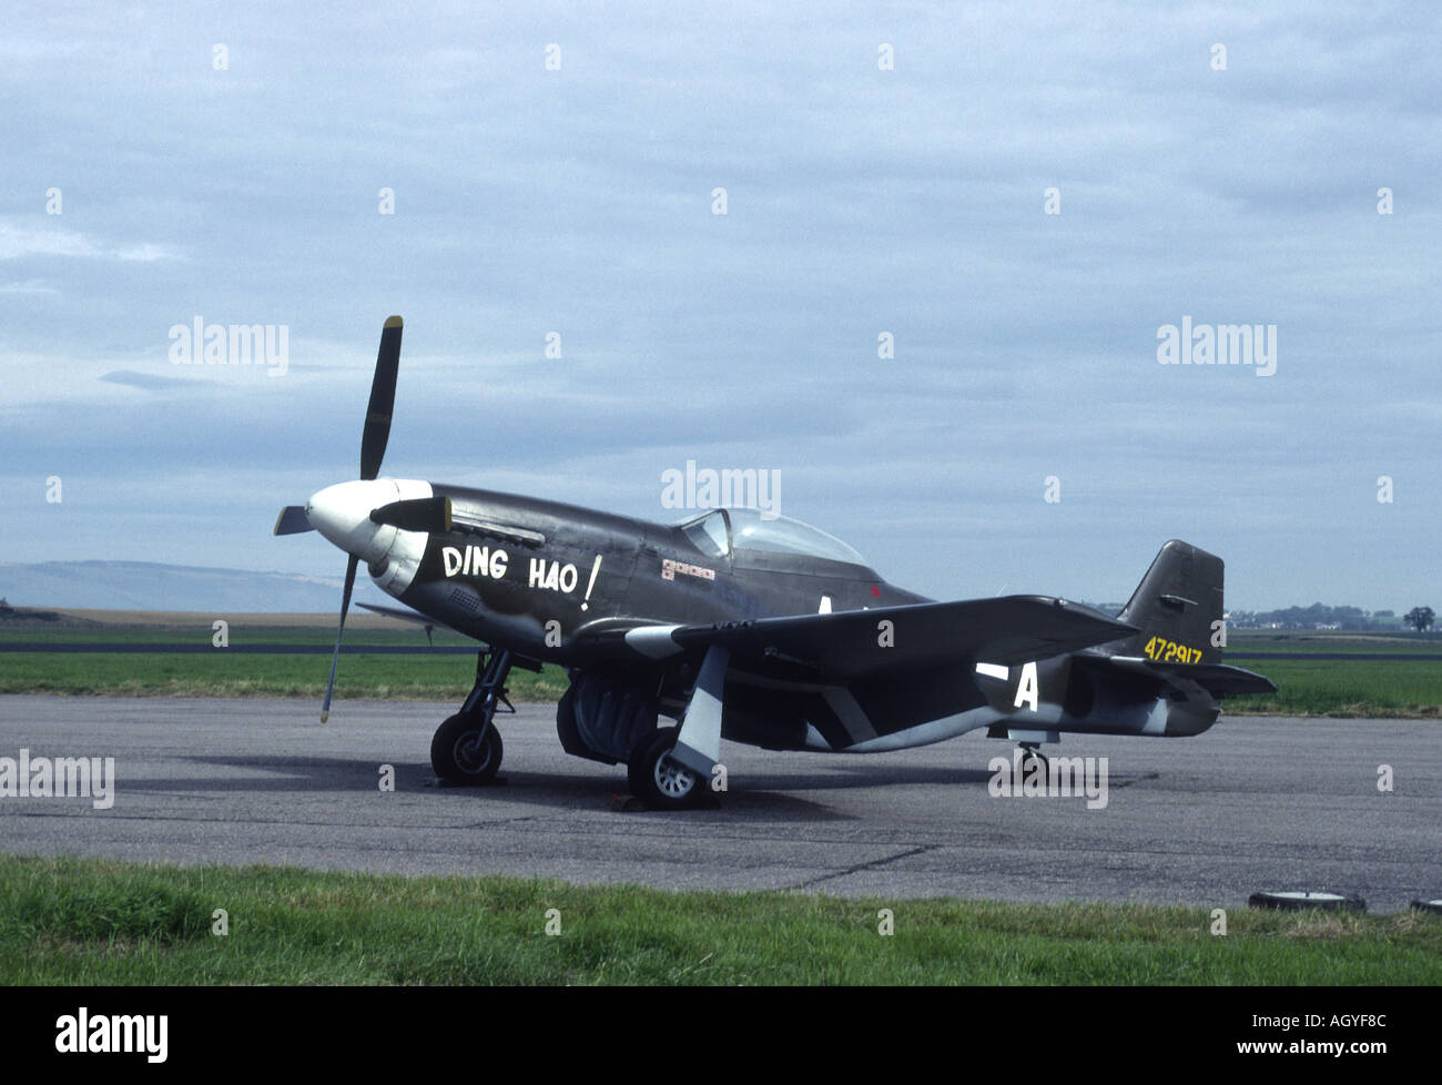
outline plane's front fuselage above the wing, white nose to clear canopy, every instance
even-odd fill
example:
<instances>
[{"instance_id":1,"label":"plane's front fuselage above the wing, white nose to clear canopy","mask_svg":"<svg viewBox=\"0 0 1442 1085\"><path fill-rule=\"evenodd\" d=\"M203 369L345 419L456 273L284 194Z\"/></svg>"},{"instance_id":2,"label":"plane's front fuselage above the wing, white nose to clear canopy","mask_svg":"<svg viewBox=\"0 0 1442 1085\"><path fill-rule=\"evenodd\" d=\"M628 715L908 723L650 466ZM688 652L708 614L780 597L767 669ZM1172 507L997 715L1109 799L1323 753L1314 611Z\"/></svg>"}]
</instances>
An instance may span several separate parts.
<instances>
[{"instance_id":1,"label":"plane's front fuselage above the wing, white nose to clear canopy","mask_svg":"<svg viewBox=\"0 0 1442 1085\"><path fill-rule=\"evenodd\" d=\"M451 531L366 519L391 501L430 496L450 498ZM844 560L849 548L829 535L750 509L695 522L702 512L688 528L395 479L340 483L307 508L322 534L360 557L376 584L407 606L486 643L562 665L574 658L575 633L604 619L708 625L927 602L885 583L859 555ZM826 547L833 553L815 553Z\"/></svg>"}]
</instances>

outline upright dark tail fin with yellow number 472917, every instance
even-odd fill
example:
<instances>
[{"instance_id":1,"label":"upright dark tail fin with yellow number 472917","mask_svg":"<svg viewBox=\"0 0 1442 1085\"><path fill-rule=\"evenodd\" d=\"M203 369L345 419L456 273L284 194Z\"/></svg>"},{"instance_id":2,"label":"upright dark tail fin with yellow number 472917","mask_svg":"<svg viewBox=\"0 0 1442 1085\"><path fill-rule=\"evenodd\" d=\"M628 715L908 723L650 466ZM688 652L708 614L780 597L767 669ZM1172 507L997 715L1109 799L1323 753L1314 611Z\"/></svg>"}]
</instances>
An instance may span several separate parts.
<instances>
[{"instance_id":1,"label":"upright dark tail fin with yellow number 472917","mask_svg":"<svg viewBox=\"0 0 1442 1085\"><path fill-rule=\"evenodd\" d=\"M1118 618L1141 632L1119 654L1168 664L1221 662L1221 558L1172 540Z\"/></svg>"}]
</instances>

